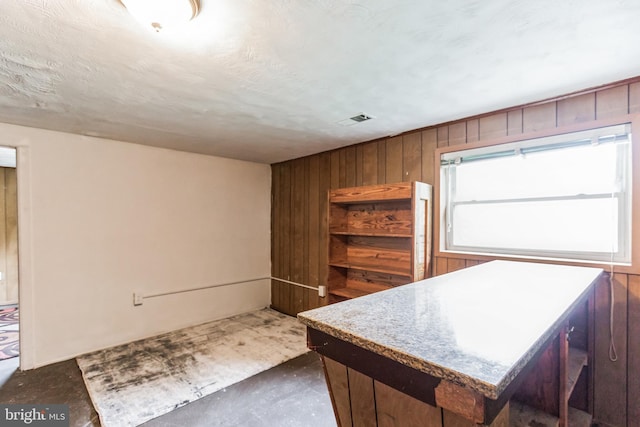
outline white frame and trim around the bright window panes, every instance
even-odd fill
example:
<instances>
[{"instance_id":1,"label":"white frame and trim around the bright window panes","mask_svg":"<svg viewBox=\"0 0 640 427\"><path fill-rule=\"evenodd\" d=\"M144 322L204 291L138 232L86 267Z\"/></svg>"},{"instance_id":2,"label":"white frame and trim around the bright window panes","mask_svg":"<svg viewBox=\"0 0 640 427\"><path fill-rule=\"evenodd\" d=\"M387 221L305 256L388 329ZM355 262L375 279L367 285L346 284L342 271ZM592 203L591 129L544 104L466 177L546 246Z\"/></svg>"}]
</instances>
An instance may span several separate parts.
<instances>
[{"instance_id":1,"label":"white frame and trim around the bright window panes","mask_svg":"<svg viewBox=\"0 0 640 427\"><path fill-rule=\"evenodd\" d=\"M615 254L614 258L611 259L611 252L607 253L572 253L572 252L552 252L552 251L522 251L519 249L507 249L507 248L477 248L477 247L466 247L466 246L454 246L451 245L451 236L454 233L454 230L447 228L449 218L448 215L450 211L446 209L447 207L447 194L446 188L448 188L448 183L446 182L446 175L441 173L441 164L456 161L455 159L459 159L460 157L464 158L464 156L474 156L474 155L482 155L487 148L490 148L490 151L500 152L508 151L508 150L517 150L518 147L526 147L530 145L532 142L534 145L537 143L538 145L545 144L553 144L553 143L561 143L560 141L567 140L566 134L571 134L574 132L584 132L587 131L589 133L593 133L594 135L598 135L598 129L616 126L616 125L627 125L629 129L629 133L636 135L636 143L633 144L637 146L640 141L640 128L638 127L638 123L640 121L637 120L638 116L624 116L619 119L613 120L601 120L590 122L586 125L576 125L564 128L556 128L547 132L538 132L531 133L525 135L519 135L517 137L505 137L501 139L496 139L494 141L487 141L482 143L475 144L465 144L465 145L457 145L454 147L443 147L436 150L435 154L435 215L439 216L438 221L434 222L435 230L434 230L434 255L436 257L445 257L445 258L465 258L465 259L478 259L478 260L488 260L488 259L531 259L531 260L550 260L553 262L568 262L571 264L598 264L604 267L609 266L611 264L615 264L621 266L621 269L617 269L616 271L626 271L626 272L637 272L640 267L640 257L639 252L640 248L634 249L634 243L636 245L640 242L640 234L638 233L638 229L640 228L640 216L639 210L640 208L633 209L634 206L638 206L638 201L640 197L638 195L638 188L640 185L632 185L633 183L640 183L639 178L639 156L638 149L634 149L635 147L631 147L631 154L629 159L630 170L629 170L629 185L630 188L628 191L628 198L624 197L624 194L602 194L602 195L590 195L590 196L572 196L574 199L581 198L589 198L589 197L606 197L606 198L616 198L618 201L618 212L620 213L619 221L622 223L628 224L629 230L619 229L618 241L619 247L625 248L628 252L620 252ZM606 133L606 132L605 132ZM584 134L582 134L584 135ZM543 139L545 138L545 139ZM460 160L458 160L460 161ZM552 198L540 198L540 200L551 200ZM568 198L565 198L568 199ZM524 198L520 201L532 201L532 198ZM513 200L516 201L516 200ZM480 202L463 202L463 203L492 203L494 201L480 201ZM501 201L500 203L504 203ZM636 225L634 227L634 225Z\"/></svg>"}]
</instances>

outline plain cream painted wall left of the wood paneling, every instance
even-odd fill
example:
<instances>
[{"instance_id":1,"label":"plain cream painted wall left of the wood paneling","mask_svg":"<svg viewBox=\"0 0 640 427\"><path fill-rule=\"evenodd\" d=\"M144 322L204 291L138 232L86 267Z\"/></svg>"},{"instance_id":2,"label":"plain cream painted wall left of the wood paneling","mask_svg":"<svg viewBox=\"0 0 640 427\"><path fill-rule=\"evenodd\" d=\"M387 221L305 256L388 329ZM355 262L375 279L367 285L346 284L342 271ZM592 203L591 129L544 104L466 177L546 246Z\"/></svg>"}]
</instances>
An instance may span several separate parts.
<instances>
[{"instance_id":1,"label":"plain cream painted wall left of the wood paneling","mask_svg":"<svg viewBox=\"0 0 640 427\"><path fill-rule=\"evenodd\" d=\"M18 147L22 368L267 306L270 167L0 124Z\"/></svg>"}]
</instances>

